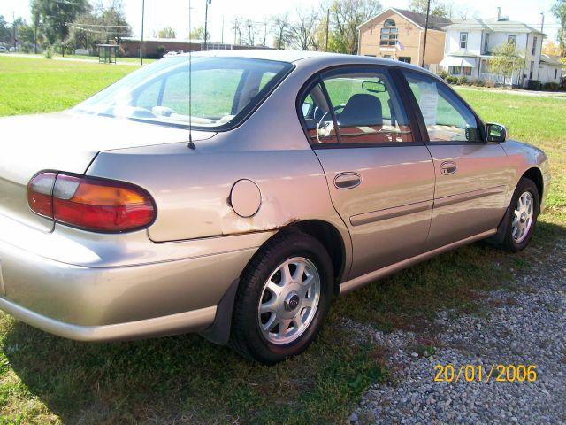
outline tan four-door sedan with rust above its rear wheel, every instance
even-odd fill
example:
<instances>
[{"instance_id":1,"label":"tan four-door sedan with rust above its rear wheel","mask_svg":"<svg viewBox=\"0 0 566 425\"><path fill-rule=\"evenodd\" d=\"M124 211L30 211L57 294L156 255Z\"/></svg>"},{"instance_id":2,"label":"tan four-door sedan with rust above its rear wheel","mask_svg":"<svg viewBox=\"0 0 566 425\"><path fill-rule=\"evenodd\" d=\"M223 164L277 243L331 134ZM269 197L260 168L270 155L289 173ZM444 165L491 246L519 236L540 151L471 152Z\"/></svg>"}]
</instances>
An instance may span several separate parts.
<instances>
[{"instance_id":1,"label":"tan four-door sedan with rust above its rear wheel","mask_svg":"<svg viewBox=\"0 0 566 425\"><path fill-rule=\"evenodd\" d=\"M82 341L199 332L265 364L386 274L480 239L523 250L550 182L543 151L379 58L178 55L0 127L0 308Z\"/></svg>"}]
</instances>

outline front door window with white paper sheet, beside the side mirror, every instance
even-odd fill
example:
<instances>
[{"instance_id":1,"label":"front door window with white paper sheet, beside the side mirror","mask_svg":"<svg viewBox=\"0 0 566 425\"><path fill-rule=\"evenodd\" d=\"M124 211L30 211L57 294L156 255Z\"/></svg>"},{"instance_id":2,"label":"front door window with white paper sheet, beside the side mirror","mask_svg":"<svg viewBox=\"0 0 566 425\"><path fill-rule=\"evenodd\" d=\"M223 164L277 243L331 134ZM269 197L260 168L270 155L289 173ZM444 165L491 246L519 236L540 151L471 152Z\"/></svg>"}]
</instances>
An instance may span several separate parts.
<instances>
[{"instance_id":1,"label":"front door window with white paper sheet, beside the side mirror","mask_svg":"<svg viewBox=\"0 0 566 425\"><path fill-rule=\"evenodd\" d=\"M470 109L440 81L403 71L431 142L479 142L478 121Z\"/></svg>"}]
</instances>

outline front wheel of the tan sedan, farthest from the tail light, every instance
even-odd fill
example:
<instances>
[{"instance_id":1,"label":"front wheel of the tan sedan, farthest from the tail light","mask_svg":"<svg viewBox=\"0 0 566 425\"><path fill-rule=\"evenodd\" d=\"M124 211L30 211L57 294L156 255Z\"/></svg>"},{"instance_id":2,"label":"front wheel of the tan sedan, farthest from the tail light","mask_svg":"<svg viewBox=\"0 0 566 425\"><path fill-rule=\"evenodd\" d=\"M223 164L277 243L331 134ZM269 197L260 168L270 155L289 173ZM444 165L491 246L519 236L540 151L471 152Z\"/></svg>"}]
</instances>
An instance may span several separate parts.
<instances>
[{"instance_id":1,"label":"front wheel of the tan sedan, farthest from the tail light","mask_svg":"<svg viewBox=\"0 0 566 425\"><path fill-rule=\"evenodd\" d=\"M523 178L511 199L507 230L501 246L509 252L518 252L531 242L539 215L539 189L530 179Z\"/></svg>"}]
</instances>

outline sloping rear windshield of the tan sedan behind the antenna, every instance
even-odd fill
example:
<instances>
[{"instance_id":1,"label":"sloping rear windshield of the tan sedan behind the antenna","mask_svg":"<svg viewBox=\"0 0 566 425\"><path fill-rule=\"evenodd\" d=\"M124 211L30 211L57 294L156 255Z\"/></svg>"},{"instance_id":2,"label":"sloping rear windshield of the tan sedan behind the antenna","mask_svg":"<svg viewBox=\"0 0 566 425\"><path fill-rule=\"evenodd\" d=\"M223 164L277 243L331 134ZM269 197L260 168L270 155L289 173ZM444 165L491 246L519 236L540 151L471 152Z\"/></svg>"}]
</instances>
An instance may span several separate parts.
<instances>
[{"instance_id":1,"label":"sloping rear windshield of the tan sedan behind the antenna","mask_svg":"<svg viewBox=\"0 0 566 425\"><path fill-rule=\"evenodd\" d=\"M74 112L222 130L260 104L293 66L252 58L164 58L129 74ZM192 97L192 101L191 101Z\"/></svg>"}]
</instances>

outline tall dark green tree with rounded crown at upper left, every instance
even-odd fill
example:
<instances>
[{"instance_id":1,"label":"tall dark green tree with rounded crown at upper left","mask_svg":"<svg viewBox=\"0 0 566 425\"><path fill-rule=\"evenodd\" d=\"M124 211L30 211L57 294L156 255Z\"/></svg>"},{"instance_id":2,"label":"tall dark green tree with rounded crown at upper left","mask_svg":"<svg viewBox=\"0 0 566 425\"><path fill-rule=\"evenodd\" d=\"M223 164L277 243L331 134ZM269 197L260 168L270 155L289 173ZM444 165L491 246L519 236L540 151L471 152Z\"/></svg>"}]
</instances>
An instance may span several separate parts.
<instances>
[{"instance_id":1,"label":"tall dark green tree with rounded crown at upper left","mask_svg":"<svg viewBox=\"0 0 566 425\"><path fill-rule=\"evenodd\" d=\"M69 24L81 13L89 12L88 0L73 2L54 2L52 0L32 0L32 16L38 16L42 23L42 32L50 44L63 41L69 35Z\"/></svg>"}]
</instances>

